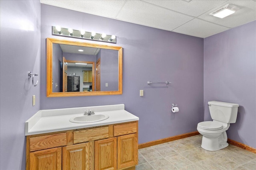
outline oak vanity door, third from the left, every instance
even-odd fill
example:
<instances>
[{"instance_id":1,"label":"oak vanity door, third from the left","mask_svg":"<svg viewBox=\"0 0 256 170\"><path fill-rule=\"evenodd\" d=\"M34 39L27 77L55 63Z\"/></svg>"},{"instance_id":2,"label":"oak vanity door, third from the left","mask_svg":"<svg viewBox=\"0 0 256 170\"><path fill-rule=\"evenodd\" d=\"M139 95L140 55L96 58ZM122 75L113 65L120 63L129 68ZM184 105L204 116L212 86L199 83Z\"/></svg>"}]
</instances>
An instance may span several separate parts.
<instances>
[{"instance_id":1,"label":"oak vanity door, third from the left","mask_svg":"<svg viewBox=\"0 0 256 170\"><path fill-rule=\"evenodd\" d=\"M95 141L95 170L116 170L116 137Z\"/></svg>"}]
</instances>

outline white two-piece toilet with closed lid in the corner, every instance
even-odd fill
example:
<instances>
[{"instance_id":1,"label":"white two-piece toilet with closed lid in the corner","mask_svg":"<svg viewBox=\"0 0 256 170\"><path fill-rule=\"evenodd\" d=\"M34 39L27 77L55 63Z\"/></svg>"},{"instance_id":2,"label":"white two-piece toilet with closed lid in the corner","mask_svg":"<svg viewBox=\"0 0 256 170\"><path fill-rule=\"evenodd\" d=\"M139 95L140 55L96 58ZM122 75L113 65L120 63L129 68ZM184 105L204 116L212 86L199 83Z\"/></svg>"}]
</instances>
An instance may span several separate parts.
<instances>
[{"instance_id":1,"label":"white two-piece toilet with closed lid in the corner","mask_svg":"<svg viewBox=\"0 0 256 170\"><path fill-rule=\"evenodd\" d=\"M203 135L201 147L215 151L228 146L227 133L230 123L236 123L238 104L210 101L208 102L213 121L202 121L197 124L198 132Z\"/></svg>"}]
</instances>

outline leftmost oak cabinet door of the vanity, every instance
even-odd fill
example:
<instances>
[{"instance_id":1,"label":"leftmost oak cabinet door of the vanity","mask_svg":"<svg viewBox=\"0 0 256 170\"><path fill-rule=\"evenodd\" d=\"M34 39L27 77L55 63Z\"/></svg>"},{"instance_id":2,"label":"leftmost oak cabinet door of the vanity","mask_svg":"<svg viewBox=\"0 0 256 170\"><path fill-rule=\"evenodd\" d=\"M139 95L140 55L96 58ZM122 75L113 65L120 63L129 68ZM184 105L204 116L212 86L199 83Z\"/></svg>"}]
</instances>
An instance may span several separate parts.
<instances>
[{"instance_id":1,"label":"leftmost oak cabinet door of the vanity","mask_svg":"<svg viewBox=\"0 0 256 170\"><path fill-rule=\"evenodd\" d=\"M61 147L30 152L30 170L61 170Z\"/></svg>"}]
</instances>

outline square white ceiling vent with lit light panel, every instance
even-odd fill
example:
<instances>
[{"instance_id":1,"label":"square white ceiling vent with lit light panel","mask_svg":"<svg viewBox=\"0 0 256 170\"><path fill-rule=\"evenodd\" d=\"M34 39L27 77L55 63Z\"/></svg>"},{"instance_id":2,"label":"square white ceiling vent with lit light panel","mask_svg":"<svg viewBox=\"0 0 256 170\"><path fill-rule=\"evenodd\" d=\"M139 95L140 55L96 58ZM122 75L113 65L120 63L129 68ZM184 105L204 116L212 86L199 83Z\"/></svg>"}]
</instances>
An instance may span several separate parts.
<instances>
[{"instance_id":1,"label":"square white ceiling vent with lit light panel","mask_svg":"<svg viewBox=\"0 0 256 170\"><path fill-rule=\"evenodd\" d=\"M227 4L227 5L219 8L218 10L210 13L209 15L212 15L212 16L215 16L218 18L224 18L226 16L233 14L234 12L236 12L239 9L240 8L238 6L235 6L233 4Z\"/></svg>"}]
</instances>

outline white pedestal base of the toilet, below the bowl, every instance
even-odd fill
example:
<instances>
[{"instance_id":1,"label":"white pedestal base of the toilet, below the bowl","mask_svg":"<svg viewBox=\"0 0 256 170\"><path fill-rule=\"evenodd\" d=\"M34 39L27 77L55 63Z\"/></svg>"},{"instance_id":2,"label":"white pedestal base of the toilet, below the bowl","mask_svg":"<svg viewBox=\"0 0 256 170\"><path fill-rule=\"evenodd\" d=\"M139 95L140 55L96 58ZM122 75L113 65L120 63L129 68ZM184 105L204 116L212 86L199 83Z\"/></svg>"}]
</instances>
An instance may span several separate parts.
<instances>
[{"instance_id":1,"label":"white pedestal base of the toilet, below the bowl","mask_svg":"<svg viewBox=\"0 0 256 170\"><path fill-rule=\"evenodd\" d=\"M205 150L216 151L228 147L226 131L220 134L219 137L202 137L201 147Z\"/></svg>"}]
</instances>

